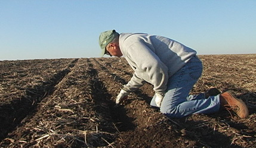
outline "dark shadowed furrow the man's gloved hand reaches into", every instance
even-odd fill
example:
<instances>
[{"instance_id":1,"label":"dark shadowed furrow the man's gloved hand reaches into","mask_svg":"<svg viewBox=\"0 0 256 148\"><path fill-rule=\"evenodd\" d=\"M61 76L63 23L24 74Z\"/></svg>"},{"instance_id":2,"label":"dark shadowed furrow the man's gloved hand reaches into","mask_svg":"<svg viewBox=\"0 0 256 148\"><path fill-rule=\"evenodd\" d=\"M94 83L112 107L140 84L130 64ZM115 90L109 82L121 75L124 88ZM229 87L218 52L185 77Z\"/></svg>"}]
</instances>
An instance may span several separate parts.
<instances>
[{"instance_id":1,"label":"dark shadowed furrow the man's gloved hand reaches into","mask_svg":"<svg viewBox=\"0 0 256 148\"><path fill-rule=\"evenodd\" d=\"M125 108L115 107L115 102L111 100L112 95L108 93L103 81L98 78L98 71L96 70L98 68L94 68L90 59L87 59L87 62L89 66L87 74L91 77L88 84L91 84L91 95L95 102L94 111L101 119L98 130L113 134L113 131L120 132L134 129L135 125L132 124L134 119L127 116ZM104 67L102 67L102 70L107 71ZM101 138L112 143L116 137L103 135ZM98 138L100 142L93 143L94 147L106 146L106 142L101 138Z\"/></svg>"}]
</instances>

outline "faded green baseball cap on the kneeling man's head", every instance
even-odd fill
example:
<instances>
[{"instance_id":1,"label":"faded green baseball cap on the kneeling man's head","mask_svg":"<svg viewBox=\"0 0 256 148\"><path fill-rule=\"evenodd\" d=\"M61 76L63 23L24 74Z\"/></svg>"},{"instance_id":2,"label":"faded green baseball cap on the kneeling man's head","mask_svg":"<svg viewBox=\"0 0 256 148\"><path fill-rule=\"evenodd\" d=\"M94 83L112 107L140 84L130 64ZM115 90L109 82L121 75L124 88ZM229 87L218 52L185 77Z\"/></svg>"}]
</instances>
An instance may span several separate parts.
<instances>
[{"instance_id":1,"label":"faded green baseball cap on the kneeling man's head","mask_svg":"<svg viewBox=\"0 0 256 148\"><path fill-rule=\"evenodd\" d=\"M112 42L113 39L115 39L116 36L118 36L119 33L116 32L116 30L109 30L103 33L100 33L100 37L98 40L98 44L101 48L101 56L103 56L106 52L106 46Z\"/></svg>"}]
</instances>

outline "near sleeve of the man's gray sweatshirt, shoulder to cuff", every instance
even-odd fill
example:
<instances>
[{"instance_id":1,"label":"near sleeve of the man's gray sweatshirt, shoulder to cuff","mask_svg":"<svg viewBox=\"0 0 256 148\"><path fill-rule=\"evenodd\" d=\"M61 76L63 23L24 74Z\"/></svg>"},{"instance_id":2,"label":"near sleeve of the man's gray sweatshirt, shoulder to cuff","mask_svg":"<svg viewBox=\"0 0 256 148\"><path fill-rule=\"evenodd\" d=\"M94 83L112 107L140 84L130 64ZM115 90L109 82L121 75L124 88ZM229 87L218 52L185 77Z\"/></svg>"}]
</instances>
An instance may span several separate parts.
<instances>
[{"instance_id":1,"label":"near sleeve of the man's gray sweatshirt, shoulder to cuff","mask_svg":"<svg viewBox=\"0 0 256 148\"><path fill-rule=\"evenodd\" d=\"M136 65L134 76L128 83L142 84L145 80L153 85L155 92L164 95L168 81L168 68L143 42L135 42L127 51L128 58ZM140 78L138 78L138 76ZM131 86L129 86L131 87Z\"/></svg>"}]
</instances>

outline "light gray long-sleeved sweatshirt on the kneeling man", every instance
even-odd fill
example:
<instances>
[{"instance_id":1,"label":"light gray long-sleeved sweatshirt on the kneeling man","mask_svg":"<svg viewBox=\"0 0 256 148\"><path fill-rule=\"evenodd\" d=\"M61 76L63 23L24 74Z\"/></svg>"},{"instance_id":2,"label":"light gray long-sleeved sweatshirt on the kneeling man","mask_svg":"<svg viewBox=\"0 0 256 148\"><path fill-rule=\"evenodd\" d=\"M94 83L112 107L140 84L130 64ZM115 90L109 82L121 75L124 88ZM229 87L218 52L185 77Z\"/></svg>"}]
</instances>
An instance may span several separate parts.
<instances>
[{"instance_id":1,"label":"light gray long-sleeved sweatshirt on the kneeling man","mask_svg":"<svg viewBox=\"0 0 256 148\"><path fill-rule=\"evenodd\" d=\"M156 93L164 95L168 78L196 55L196 51L175 40L144 33L121 33L119 46L135 71L123 88L129 92L148 82Z\"/></svg>"}]
</instances>

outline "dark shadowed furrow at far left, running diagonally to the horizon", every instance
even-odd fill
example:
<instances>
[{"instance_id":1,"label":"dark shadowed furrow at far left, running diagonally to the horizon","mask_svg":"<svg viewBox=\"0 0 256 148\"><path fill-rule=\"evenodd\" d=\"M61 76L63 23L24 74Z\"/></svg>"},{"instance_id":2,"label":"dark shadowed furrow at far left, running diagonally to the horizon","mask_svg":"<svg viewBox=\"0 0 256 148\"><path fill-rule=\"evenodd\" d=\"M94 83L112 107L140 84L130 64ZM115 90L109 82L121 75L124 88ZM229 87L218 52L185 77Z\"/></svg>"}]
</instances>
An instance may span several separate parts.
<instances>
[{"instance_id":1,"label":"dark shadowed furrow at far left, running diagonally to the horizon","mask_svg":"<svg viewBox=\"0 0 256 148\"><path fill-rule=\"evenodd\" d=\"M21 121L26 118L26 116L33 116L33 114L35 114L38 103L54 92L54 86L56 86L65 75L70 73L70 68L74 67L77 61L78 59L72 61L66 69L54 74L50 80L45 81L42 85L27 89L20 99L14 99L13 102L0 106L0 141L20 125Z\"/></svg>"}]
</instances>

